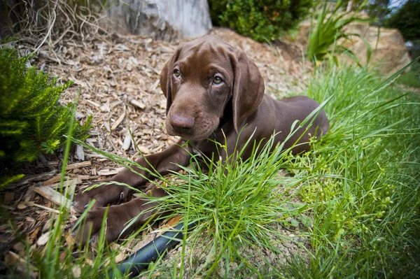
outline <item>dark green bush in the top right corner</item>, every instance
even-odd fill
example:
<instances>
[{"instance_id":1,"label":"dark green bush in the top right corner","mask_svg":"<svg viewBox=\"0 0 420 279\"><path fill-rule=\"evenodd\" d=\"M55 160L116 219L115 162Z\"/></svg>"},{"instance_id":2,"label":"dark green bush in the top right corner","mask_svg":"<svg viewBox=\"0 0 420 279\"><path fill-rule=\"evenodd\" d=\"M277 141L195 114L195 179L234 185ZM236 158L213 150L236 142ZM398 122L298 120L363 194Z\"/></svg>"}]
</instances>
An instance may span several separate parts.
<instances>
[{"instance_id":1,"label":"dark green bush in the top right corner","mask_svg":"<svg viewBox=\"0 0 420 279\"><path fill-rule=\"evenodd\" d=\"M406 40L420 39L420 1L407 1L386 20L385 26L398 28Z\"/></svg>"}]
</instances>

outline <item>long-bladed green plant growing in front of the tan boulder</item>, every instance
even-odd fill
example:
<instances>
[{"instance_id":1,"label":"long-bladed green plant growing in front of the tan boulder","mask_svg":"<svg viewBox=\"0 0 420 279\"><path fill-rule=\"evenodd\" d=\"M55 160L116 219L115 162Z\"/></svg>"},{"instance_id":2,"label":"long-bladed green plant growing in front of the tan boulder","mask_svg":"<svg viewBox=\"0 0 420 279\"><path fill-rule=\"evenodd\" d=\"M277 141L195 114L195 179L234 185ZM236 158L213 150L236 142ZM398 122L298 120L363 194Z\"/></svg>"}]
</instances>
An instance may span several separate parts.
<instances>
[{"instance_id":1,"label":"long-bladed green plant growing in front of the tan boulder","mask_svg":"<svg viewBox=\"0 0 420 279\"><path fill-rule=\"evenodd\" d=\"M357 36L361 40L359 34L348 34L342 29L351 22L370 22L369 18L360 18L357 17L357 13L364 7L360 5L356 11L345 13L342 11L343 2L337 1L335 8L328 13L329 6L328 2L325 1L321 3L321 12L314 17L316 17L316 22L314 23L314 17L312 18L311 28L309 29L309 38L307 46L307 57L311 59L314 64L316 61L320 61L325 58L325 56L334 57L336 53L345 53L356 63L358 59L356 55L351 52L351 50L345 48L342 44L335 44L340 38L349 39L351 36ZM367 48L367 61L369 61L370 53L372 49L365 40L363 42ZM334 48L332 47L334 46Z\"/></svg>"}]
</instances>

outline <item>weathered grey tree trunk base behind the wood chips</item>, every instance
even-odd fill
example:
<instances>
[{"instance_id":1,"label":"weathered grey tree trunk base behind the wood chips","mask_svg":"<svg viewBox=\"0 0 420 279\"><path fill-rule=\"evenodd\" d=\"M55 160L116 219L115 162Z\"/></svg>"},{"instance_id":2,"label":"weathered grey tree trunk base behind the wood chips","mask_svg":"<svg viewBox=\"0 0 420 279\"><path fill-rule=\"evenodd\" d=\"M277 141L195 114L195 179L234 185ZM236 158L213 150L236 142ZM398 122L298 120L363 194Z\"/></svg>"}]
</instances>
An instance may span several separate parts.
<instances>
[{"instance_id":1,"label":"weathered grey tree trunk base behind the wood chips","mask_svg":"<svg viewBox=\"0 0 420 279\"><path fill-rule=\"evenodd\" d=\"M207 0L126 0L108 15L106 27L112 31L163 41L196 38L211 29Z\"/></svg>"}]
</instances>

